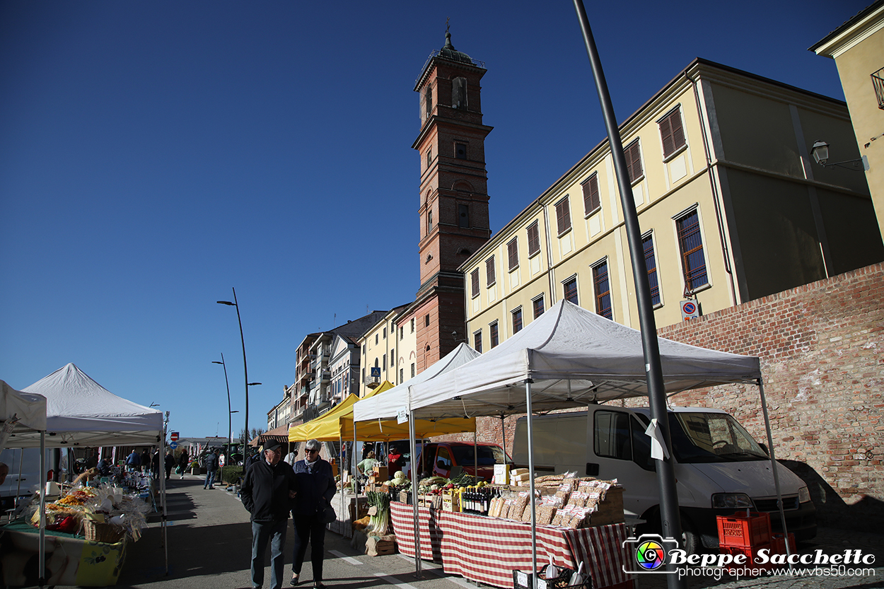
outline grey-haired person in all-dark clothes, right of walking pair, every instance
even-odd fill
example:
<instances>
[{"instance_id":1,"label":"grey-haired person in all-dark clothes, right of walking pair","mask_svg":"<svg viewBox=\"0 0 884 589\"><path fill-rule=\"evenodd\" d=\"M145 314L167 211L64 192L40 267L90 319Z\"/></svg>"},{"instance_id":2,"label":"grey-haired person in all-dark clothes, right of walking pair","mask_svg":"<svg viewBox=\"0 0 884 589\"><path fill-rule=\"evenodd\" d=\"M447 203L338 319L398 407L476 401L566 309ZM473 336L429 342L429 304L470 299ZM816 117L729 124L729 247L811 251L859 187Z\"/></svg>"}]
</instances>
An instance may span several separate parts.
<instances>
[{"instance_id":1,"label":"grey-haired person in all-dark clothes, right of walking pair","mask_svg":"<svg viewBox=\"0 0 884 589\"><path fill-rule=\"evenodd\" d=\"M322 589L325 524L322 514L331 506L336 491L331 464L319 457L319 442L309 440L304 445L304 459L294 463L294 477L298 481L298 496L293 503L294 547L292 582L298 585L301 566L310 544L310 562L313 565L313 586Z\"/></svg>"}]
</instances>

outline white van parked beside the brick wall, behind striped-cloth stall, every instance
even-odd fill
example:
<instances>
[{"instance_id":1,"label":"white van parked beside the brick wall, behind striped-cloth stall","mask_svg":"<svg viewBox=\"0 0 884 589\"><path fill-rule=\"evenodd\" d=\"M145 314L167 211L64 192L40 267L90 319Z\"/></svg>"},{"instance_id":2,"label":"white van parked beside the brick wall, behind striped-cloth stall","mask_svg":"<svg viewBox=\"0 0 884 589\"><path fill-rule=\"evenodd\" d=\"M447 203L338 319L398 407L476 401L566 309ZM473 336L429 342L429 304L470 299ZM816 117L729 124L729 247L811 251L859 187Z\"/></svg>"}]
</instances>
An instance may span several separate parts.
<instances>
[{"instance_id":1,"label":"white van parked beside the brick wall, behind striped-cloth stall","mask_svg":"<svg viewBox=\"0 0 884 589\"><path fill-rule=\"evenodd\" d=\"M637 532L659 532L659 487L651 439L644 430L651 409L592 405L588 411L533 418L534 466L546 472L616 478L623 486L627 517L646 522ZM528 464L527 419L515 426L513 460ZM776 490L766 447L752 439L734 417L718 409L669 409L676 489L682 516L683 548L718 547L715 516L737 509L771 513L781 530ZM800 478L778 464L786 524L796 539L816 536L816 508Z\"/></svg>"}]
</instances>

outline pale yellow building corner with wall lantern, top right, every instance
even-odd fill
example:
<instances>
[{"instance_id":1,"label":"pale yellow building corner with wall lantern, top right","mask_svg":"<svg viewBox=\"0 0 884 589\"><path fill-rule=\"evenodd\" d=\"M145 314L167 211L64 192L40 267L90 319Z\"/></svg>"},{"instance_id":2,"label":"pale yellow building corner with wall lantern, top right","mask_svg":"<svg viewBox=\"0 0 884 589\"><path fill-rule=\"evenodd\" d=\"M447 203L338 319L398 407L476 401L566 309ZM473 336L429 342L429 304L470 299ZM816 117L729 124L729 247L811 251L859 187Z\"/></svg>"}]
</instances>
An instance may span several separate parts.
<instances>
[{"instance_id":1,"label":"pale yellow building corner with wall lantern, top right","mask_svg":"<svg viewBox=\"0 0 884 589\"><path fill-rule=\"evenodd\" d=\"M838 67L859 152L853 145L814 139L829 143L827 165L865 171L884 234L884 0L859 11L810 50L832 57Z\"/></svg>"}]
</instances>

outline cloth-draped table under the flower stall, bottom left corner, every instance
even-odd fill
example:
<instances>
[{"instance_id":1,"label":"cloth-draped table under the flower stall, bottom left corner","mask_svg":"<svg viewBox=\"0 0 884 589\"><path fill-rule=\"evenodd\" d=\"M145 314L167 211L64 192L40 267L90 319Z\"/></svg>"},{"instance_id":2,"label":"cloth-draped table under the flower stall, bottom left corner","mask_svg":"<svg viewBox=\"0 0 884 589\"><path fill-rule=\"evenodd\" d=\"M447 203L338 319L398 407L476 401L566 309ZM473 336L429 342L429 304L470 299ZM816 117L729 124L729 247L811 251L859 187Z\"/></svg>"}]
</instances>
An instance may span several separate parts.
<instances>
[{"instance_id":1,"label":"cloth-draped table under the flower stall, bottom left corner","mask_svg":"<svg viewBox=\"0 0 884 589\"><path fill-rule=\"evenodd\" d=\"M19 520L0 526L0 579L4 586L37 585L39 530ZM126 536L108 544L46 531L47 585L116 585L126 561Z\"/></svg>"}]
</instances>

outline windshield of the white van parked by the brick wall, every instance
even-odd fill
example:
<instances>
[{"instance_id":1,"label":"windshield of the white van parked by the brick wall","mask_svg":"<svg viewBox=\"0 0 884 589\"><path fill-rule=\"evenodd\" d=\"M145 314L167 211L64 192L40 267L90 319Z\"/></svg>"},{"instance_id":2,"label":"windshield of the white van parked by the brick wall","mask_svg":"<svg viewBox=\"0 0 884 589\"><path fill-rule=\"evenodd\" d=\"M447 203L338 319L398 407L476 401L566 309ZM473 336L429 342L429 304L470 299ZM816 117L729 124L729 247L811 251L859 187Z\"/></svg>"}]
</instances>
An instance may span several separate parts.
<instances>
[{"instance_id":1,"label":"windshield of the white van parked by the brick wall","mask_svg":"<svg viewBox=\"0 0 884 589\"><path fill-rule=\"evenodd\" d=\"M669 434L679 463L768 460L767 453L726 413L669 413Z\"/></svg>"}]
</instances>

